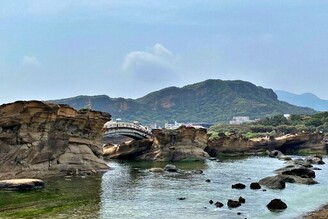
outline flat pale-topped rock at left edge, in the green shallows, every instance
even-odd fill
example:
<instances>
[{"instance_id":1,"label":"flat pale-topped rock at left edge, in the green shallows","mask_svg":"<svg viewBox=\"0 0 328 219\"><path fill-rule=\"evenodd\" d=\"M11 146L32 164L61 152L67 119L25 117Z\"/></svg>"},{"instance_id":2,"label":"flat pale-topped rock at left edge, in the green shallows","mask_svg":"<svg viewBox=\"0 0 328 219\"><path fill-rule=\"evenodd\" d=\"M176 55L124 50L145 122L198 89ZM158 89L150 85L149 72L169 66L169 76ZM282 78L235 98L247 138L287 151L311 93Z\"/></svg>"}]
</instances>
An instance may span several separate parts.
<instances>
[{"instance_id":1,"label":"flat pale-topped rock at left edge, in the green shallows","mask_svg":"<svg viewBox=\"0 0 328 219\"><path fill-rule=\"evenodd\" d=\"M3 190L34 190L44 188L44 182L41 179L10 179L0 180L0 189Z\"/></svg>"}]
</instances>

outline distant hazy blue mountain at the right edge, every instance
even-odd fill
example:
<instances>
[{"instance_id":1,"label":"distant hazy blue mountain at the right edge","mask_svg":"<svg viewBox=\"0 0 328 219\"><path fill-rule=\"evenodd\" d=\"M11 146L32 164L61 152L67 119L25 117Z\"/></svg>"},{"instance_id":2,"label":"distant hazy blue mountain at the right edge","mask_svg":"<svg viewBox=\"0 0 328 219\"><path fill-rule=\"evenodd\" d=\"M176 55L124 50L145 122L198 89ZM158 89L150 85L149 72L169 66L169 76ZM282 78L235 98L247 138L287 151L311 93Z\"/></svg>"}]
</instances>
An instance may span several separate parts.
<instances>
[{"instance_id":1,"label":"distant hazy blue mountain at the right edge","mask_svg":"<svg viewBox=\"0 0 328 219\"><path fill-rule=\"evenodd\" d=\"M323 100L311 93L304 94L293 94L287 91L276 90L275 93L278 95L278 99L286 101L287 103L310 107L317 111L328 111L328 100Z\"/></svg>"}]
</instances>

